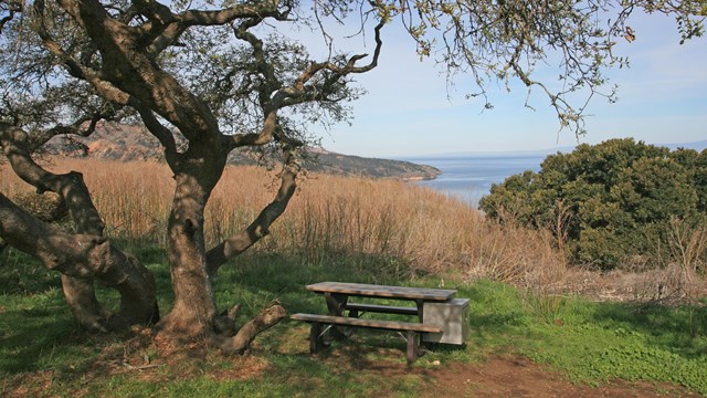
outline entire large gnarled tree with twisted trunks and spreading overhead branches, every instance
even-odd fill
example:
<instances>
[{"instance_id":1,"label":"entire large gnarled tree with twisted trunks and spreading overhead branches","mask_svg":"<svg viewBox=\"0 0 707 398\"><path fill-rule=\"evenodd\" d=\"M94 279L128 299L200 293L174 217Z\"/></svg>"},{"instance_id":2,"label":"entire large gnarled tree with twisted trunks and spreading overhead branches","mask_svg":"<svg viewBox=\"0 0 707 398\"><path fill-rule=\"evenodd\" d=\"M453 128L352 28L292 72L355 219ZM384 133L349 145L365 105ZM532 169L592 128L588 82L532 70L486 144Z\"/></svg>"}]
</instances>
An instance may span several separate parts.
<instances>
[{"instance_id":1,"label":"entire large gnarled tree with twisted trunks and spreading overhead branches","mask_svg":"<svg viewBox=\"0 0 707 398\"><path fill-rule=\"evenodd\" d=\"M472 95L518 78L547 94L561 126L581 133L584 100L602 93L605 67L624 62L612 52L615 41L640 34L626 25L634 9L675 15L684 39L703 32L704 1L1 0L2 153L39 192L62 198L73 226L46 223L0 192L0 238L62 272L85 328L159 320L166 336L208 335L241 352L284 308L266 308L235 335L217 332L223 317L211 280L285 211L299 148L313 140L306 127L347 117L346 102L360 94L352 76L377 66L387 23L403 23L418 52L451 75L473 76ZM325 28L325 21L354 20L374 41L372 53L340 52ZM327 55L308 55L284 27L318 32ZM559 85L536 78L535 66L546 60L557 60ZM578 92L583 100L573 105ZM602 95L611 98L612 90ZM32 157L53 136L89 135L106 122L144 125L173 172L166 233L175 305L165 316L150 272L105 237L82 176L53 174ZM204 207L228 155L246 147L281 153L281 187L250 226L208 248ZM120 292L117 313L96 300L94 280Z\"/></svg>"}]
</instances>

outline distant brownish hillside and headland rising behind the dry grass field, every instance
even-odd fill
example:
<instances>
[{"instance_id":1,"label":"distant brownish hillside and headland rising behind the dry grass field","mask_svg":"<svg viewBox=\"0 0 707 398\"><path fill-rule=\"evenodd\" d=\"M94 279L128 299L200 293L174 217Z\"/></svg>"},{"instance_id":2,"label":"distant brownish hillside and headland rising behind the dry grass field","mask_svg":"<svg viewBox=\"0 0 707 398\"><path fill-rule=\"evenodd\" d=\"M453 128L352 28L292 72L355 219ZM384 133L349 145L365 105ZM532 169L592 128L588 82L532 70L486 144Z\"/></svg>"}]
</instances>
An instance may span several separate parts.
<instances>
[{"instance_id":1,"label":"distant brownish hillside and headland rising behind the dry grass field","mask_svg":"<svg viewBox=\"0 0 707 398\"><path fill-rule=\"evenodd\" d=\"M43 149L51 155L118 161L163 159L162 147L157 138L139 126L127 125L110 125L87 138L54 137ZM257 165L258 158L256 154L240 149L229 156L229 164ZM317 172L404 180L433 179L441 174L432 166L411 161L362 158L320 149L307 153L303 165L305 169Z\"/></svg>"}]
</instances>

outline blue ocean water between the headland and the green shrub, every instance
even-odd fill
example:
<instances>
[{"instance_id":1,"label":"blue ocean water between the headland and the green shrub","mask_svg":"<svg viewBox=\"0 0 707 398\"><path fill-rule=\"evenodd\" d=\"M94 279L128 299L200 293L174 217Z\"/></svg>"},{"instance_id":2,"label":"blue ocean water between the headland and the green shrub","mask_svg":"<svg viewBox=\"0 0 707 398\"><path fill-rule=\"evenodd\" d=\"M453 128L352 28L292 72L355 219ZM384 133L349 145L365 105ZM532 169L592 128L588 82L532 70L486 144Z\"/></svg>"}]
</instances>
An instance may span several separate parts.
<instances>
[{"instance_id":1,"label":"blue ocean water between the headland and the green shrub","mask_svg":"<svg viewBox=\"0 0 707 398\"><path fill-rule=\"evenodd\" d=\"M490 191L492 184L525 170L539 171L546 155L471 155L405 159L430 165L442 171L434 180L415 184L437 189L449 196L478 206L478 200Z\"/></svg>"}]
</instances>

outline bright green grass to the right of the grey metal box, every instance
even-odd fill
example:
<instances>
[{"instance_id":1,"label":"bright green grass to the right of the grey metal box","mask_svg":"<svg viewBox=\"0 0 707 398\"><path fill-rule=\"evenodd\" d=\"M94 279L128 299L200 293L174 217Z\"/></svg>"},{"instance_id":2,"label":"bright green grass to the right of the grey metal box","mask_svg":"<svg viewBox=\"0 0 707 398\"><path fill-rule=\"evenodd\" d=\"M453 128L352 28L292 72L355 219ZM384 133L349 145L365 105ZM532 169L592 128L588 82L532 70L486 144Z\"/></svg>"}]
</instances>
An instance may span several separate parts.
<instances>
[{"instance_id":1,"label":"bright green grass to the right of the grey metal box","mask_svg":"<svg viewBox=\"0 0 707 398\"><path fill-rule=\"evenodd\" d=\"M514 289L484 282L467 294L474 303L473 341L492 352L511 347L581 383L668 381L707 394L705 306L569 297L553 306L550 321L538 314L545 304Z\"/></svg>"}]
</instances>

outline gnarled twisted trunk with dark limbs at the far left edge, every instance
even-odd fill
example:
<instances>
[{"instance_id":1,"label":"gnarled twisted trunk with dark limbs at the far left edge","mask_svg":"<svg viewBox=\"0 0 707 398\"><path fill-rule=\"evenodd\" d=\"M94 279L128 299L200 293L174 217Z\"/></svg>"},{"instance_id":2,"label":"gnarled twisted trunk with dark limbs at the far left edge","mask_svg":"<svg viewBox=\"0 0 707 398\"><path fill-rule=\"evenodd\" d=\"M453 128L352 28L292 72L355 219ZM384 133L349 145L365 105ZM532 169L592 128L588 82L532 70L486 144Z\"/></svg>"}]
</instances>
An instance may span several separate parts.
<instances>
[{"instance_id":1,"label":"gnarled twisted trunk with dark limbs at the far left edge","mask_svg":"<svg viewBox=\"0 0 707 398\"><path fill-rule=\"evenodd\" d=\"M103 237L103 220L81 174L55 175L41 168L30 156L28 137L17 127L0 124L0 145L14 172L38 192L60 195L77 233L40 221L0 193L0 237L41 260L48 269L62 273L66 300L83 327L106 331L156 322L159 314L152 275ZM110 314L98 303L94 277L120 292L117 314Z\"/></svg>"}]
</instances>

